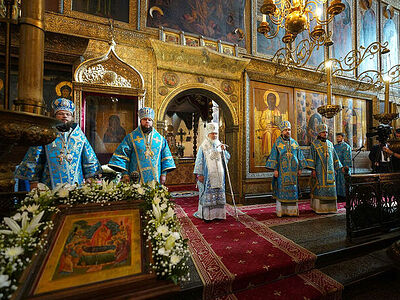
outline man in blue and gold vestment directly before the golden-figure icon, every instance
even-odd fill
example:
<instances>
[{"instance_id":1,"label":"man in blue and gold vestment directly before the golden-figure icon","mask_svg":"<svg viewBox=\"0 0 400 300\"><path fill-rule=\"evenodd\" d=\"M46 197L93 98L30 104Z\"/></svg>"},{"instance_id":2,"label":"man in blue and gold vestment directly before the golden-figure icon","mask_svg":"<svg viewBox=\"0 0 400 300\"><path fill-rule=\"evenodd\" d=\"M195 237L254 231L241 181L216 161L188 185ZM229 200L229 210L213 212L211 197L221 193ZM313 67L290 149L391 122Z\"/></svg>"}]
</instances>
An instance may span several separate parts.
<instances>
[{"instance_id":1,"label":"man in blue and gold vestment directly before the golden-figure icon","mask_svg":"<svg viewBox=\"0 0 400 300\"><path fill-rule=\"evenodd\" d=\"M299 144L290 137L290 122L283 121L279 129L281 135L275 141L266 163L267 169L274 170L272 190L276 200L276 214L278 217L298 216L298 176L307 162Z\"/></svg>"}]
</instances>

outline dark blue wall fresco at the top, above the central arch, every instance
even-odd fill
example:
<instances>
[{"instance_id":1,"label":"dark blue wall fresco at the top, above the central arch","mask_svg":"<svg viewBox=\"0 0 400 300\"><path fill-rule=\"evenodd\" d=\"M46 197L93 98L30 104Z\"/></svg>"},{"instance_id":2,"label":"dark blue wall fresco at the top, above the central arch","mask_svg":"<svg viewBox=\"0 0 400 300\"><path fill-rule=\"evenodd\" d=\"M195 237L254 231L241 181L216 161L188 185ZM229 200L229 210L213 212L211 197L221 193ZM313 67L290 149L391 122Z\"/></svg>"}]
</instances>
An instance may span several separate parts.
<instances>
[{"instance_id":1,"label":"dark blue wall fresco at the top, above the central arch","mask_svg":"<svg viewBox=\"0 0 400 300\"><path fill-rule=\"evenodd\" d=\"M236 29L245 31L245 0L149 0L147 26L199 34L244 46Z\"/></svg>"}]
</instances>

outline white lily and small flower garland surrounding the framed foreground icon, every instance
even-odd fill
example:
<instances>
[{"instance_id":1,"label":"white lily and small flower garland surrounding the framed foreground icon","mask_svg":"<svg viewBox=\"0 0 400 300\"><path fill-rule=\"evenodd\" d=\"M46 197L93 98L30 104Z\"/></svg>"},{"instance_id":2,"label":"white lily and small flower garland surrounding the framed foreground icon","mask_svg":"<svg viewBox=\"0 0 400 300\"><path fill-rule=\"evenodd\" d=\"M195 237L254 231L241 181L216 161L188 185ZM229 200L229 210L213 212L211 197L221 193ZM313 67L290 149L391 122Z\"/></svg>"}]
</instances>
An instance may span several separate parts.
<instances>
[{"instance_id":1,"label":"white lily and small flower garland surrounding the framed foreground icon","mask_svg":"<svg viewBox=\"0 0 400 300\"><path fill-rule=\"evenodd\" d=\"M101 181L81 186L58 185L54 190L39 184L27 194L16 213L0 223L0 299L10 299L19 278L36 251L46 245L47 230L57 206L143 199L144 233L151 245L152 268L160 279L176 284L188 279L187 240L179 233L174 204L165 186L156 182L127 184Z\"/></svg>"}]
</instances>

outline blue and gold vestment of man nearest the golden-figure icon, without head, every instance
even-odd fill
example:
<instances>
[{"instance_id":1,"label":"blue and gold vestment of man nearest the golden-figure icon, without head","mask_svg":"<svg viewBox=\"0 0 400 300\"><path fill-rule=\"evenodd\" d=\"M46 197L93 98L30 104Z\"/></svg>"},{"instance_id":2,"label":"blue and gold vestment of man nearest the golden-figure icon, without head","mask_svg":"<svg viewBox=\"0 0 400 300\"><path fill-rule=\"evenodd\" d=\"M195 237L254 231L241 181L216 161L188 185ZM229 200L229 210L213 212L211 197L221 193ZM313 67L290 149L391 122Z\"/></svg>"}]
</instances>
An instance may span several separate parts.
<instances>
[{"instance_id":1,"label":"blue and gold vestment of man nearest the golden-figure icon, without head","mask_svg":"<svg viewBox=\"0 0 400 300\"><path fill-rule=\"evenodd\" d=\"M267 169L279 172L277 178L272 178L272 189L277 201L297 202L299 199L297 172L306 166L299 144L292 138L286 141L279 136L266 163Z\"/></svg>"}]
</instances>

